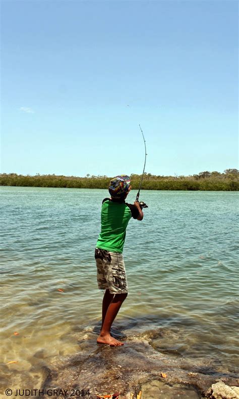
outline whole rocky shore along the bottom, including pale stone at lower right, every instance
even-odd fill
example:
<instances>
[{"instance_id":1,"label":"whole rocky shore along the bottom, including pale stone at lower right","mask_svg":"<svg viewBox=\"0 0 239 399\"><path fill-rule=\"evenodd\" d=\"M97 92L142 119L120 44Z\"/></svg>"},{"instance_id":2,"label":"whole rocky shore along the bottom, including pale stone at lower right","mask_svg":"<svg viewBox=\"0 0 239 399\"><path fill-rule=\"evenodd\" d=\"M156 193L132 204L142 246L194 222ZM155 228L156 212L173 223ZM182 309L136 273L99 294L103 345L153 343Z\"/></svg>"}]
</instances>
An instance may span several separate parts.
<instances>
[{"instance_id":1,"label":"whole rocky shore along the bottom, including pale stone at lower right","mask_svg":"<svg viewBox=\"0 0 239 399\"><path fill-rule=\"evenodd\" d=\"M11 384L27 380L29 387L44 391L44 397L54 389L65 398L79 397L89 389L84 397L90 399L116 392L119 399L239 398L239 376L219 372L205 359L194 361L156 350L150 338L154 333L125 336L124 346L109 347L97 345L97 332L89 329L81 334L76 355L47 358L39 351L29 359L31 370L16 369L11 374ZM4 375L7 383L7 366Z\"/></svg>"}]
</instances>

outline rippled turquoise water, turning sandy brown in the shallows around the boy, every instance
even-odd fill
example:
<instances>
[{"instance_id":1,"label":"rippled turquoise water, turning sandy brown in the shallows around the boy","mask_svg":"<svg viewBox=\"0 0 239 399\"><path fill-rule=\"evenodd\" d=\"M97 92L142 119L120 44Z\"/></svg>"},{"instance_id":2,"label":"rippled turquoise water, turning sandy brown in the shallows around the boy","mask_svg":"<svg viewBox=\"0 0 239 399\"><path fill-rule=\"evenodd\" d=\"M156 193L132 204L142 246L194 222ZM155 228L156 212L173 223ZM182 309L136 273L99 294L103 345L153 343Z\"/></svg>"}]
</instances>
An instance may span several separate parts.
<instances>
[{"instance_id":1,"label":"rippled turquoise water, turning sandy brown in the shallows around the boy","mask_svg":"<svg viewBox=\"0 0 239 399\"><path fill-rule=\"evenodd\" d=\"M97 330L94 247L106 190L1 187L1 363L78 353ZM128 202L133 203L136 191ZM129 295L119 334L200 370L238 372L238 195L141 191L124 249ZM58 291L64 290L64 292ZM19 335L14 335L18 332ZM97 332L95 332L97 336ZM27 377L26 377L27 378Z\"/></svg>"}]
</instances>

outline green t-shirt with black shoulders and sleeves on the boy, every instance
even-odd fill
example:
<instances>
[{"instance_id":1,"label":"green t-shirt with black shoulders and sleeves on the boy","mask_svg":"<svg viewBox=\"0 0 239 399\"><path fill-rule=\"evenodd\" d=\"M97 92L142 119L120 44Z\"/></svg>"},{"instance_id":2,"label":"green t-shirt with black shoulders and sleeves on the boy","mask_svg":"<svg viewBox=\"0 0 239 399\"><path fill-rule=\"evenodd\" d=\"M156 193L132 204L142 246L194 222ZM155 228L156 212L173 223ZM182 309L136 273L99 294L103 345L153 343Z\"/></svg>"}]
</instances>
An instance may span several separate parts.
<instances>
[{"instance_id":1,"label":"green t-shirt with black shoulders and sleeves on the boy","mask_svg":"<svg viewBox=\"0 0 239 399\"><path fill-rule=\"evenodd\" d=\"M139 217L139 211L135 205L114 202L105 198L101 208L101 232L96 247L122 253L126 228L132 216L134 219Z\"/></svg>"}]
</instances>

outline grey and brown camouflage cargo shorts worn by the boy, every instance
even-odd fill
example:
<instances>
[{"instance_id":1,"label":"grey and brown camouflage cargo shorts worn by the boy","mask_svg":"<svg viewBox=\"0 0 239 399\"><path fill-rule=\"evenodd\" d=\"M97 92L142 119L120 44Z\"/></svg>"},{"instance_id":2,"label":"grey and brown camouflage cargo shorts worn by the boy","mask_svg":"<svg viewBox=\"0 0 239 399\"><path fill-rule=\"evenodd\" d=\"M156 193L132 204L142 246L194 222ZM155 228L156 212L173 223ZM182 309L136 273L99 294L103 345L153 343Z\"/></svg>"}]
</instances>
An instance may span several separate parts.
<instances>
[{"instance_id":1,"label":"grey and brown camouflage cargo shorts worn by the boy","mask_svg":"<svg viewBox=\"0 0 239 399\"><path fill-rule=\"evenodd\" d=\"M108 289L112 294L128 292L123 255L95 248L97 282L99 289Z\"/></svg>"}]
</instances>

